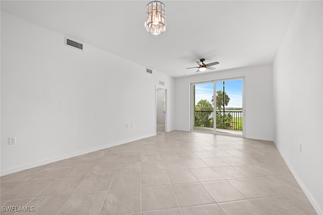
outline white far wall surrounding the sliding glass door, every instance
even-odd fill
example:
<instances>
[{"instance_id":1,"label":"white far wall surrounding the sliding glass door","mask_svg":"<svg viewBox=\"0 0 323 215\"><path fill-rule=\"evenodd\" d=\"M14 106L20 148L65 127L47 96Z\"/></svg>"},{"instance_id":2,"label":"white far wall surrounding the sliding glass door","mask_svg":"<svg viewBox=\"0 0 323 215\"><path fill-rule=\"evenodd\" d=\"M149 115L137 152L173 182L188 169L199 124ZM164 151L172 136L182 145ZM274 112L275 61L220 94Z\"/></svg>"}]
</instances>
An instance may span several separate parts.
<instances>
[{"instance_id":1,"label":"white far wall surrounding the sliding glass door","mask_svg":"<svg viewBox=\"0 0 323 215\"><path fill-rule=\"evenodd\" d=\"M245 136L273 140L272 66L254 66L176 79L176 129L190 131L190 83L245 77Z\"/></svg>"}]
</instances>

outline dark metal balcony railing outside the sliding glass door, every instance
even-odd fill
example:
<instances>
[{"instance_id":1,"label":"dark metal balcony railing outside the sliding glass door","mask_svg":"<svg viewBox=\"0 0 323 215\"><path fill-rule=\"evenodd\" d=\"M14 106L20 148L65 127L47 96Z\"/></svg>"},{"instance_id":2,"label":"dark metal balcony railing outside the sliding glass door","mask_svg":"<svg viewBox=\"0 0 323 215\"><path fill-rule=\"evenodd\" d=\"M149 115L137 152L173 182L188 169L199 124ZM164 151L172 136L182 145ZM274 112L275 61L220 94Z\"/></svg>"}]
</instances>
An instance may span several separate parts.
<instances>
[{"instance_id":1,"label":"dark metal balcony railing outside the sliding glass door","mask_svg":"<svg viewBox=\"0 0 323 215\"><path fill-rule=\"evenodd\" d=\"M242 111L217 111L217 129L242 131ZM213 111L195 111L195 127L213 128Z\"/></svg>"}]
</instances>

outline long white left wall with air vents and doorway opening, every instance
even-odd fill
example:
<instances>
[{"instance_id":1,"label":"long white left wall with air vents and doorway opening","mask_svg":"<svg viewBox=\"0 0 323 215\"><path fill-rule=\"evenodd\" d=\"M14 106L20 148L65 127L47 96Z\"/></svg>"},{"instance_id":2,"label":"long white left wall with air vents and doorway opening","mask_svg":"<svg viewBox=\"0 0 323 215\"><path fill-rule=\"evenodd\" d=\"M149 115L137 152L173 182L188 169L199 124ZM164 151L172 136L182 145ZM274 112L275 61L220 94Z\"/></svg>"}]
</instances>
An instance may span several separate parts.
<instances>
[{"instance_id":1,"label":"long white left wall with air vents and doorway opening","mask_svg":"<svg viewBox=\"0 0 323 215\"><path fill-rule=\"evenodd\" d=\"M1 13L2 175L154 135L159 81L174 129L173 78L64 37Z\"/></svg>"}]
</instances>

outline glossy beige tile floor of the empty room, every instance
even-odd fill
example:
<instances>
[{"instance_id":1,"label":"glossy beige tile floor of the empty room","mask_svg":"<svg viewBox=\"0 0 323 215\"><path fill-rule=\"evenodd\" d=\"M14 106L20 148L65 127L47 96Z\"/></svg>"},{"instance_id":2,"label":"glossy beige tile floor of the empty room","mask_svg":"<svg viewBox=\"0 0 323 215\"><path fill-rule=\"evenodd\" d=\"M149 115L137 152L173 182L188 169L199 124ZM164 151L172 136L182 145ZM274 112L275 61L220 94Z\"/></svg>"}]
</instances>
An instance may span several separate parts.
<instances>
[{"instance_id":1,"label":"glossy beige tile floor of the empty room","mask_svg":"<svg viewBox=\"0 0 323 215\"><path fill-rule=\"evenodd\" d=\"M46 215L316 214L273 142L162 126L154 137L3 176L1 206Z\"/></svg>"}]
</instances>

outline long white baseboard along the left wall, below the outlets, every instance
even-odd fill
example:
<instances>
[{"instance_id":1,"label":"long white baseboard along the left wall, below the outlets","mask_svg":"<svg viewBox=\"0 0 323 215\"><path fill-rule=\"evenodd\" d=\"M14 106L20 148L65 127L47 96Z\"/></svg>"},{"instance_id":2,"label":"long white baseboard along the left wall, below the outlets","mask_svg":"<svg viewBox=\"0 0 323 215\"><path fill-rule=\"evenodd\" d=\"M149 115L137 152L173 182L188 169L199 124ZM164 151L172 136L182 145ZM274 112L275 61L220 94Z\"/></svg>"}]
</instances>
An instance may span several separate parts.
<instances>
[{"instance_id":1,"label":"long white baseboard along the left wall, below the outlets","mask_svg":"<svg viewBox=\"0 0 323 215\"><path fill-rule=\"evenodd\" d=\"M101 150L101 149L105 149L105 148L110 148L110 147L117 146L117 145L122 145L122 144L125 144L125 143L129 143L129 142L132 142L132 141L144 139L144 138L147 138L147 137L152 137L152 136L155 136L155 135L156 134L148 134L148 135L144 135L144 136L141 136L141 137L136 137L136 138L132 138L132 139L128 139L128 140L109 143L109 144L106 144L106 145L102 145L102 146L98 146L98 147L94 147L94 148L89 148L89 149L77 151L77 152L74 152L74 153L65 154L65 155L62 155L62 156L52 157L52 158L49 158L49 159L43 159L43 160L40 160L39 162L35 162L35 163L27 164L27 165L21 165L19 167L7 169L7 170L1 170L0 176L5 176L5 175L12 174L12 173L17 173L17 172L20 172L20 171L23 171L23 170L28 170L30 168L39 167L39 166L50 164L50 163L53 163L53 162L58 162L59 160L75 157L75 156L78 156L78 155L86 154L86 153L89 153L89 152L93 152L93 151L97 151L97 150Z\"/></svg>"}]
</instances>

